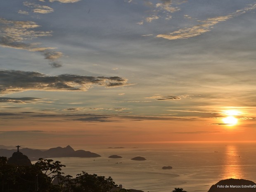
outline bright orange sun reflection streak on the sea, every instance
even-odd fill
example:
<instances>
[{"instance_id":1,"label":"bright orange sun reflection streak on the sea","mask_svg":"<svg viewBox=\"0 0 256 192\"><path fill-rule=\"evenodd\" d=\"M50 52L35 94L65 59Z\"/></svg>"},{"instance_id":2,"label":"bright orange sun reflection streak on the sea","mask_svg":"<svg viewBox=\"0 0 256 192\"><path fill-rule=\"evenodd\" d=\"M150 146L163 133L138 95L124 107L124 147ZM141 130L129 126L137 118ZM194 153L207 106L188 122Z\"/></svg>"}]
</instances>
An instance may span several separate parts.
<instances>
[{"instance_id":1,"label":"bright orange sun reflection streak on the sea","mask_svg":"<svg viewBox=\"0 0 256 192\"><path fill-rule=\"evenodd\" d=\"M237 153L236 146L226 146L224 161L225 167L223 169L223 179L243 178L243 173L241 170L241 157Z\"/></svg>"}]
</instances>

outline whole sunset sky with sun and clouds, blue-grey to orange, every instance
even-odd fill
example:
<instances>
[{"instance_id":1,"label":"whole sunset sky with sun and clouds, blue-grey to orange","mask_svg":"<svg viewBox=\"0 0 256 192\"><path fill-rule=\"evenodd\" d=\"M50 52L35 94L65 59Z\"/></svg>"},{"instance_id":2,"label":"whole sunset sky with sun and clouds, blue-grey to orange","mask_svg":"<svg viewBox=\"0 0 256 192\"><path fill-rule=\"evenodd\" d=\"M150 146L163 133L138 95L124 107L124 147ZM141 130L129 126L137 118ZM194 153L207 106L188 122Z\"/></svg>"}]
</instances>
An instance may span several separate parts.
<instances>
[{"instance_id":1,"label":"whole sunset sky with sun and clouds, blue-grey to orange","mask_svg":"<svg viewBox=\"0 0 256 192\"><path fill-rule=\"evenodd\" d=\"M2 0L0 144L253 141L255 0Z\"/></svg>"}]
</instances>

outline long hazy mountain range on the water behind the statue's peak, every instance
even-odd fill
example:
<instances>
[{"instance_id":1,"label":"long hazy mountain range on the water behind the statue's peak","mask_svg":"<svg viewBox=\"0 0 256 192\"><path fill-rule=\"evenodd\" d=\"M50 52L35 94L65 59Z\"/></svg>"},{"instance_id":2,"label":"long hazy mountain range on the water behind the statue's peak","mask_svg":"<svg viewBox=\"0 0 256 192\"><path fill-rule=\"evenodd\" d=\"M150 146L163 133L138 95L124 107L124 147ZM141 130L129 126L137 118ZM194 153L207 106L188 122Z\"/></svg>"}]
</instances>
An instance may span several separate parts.
<instances>
[{"instance_id":1,"label":"long hazy mountain range on the water behind the statue's peak","mask_svg":"<svg viewBox=\"0 0 256 192\"><path fill-rule=\"evenodd\" d=\"M99 154L92 153L84 150L75 151L69 145L66 147L55 147L46 151L39 149L23 148L19 149L20 152L28 156L31 161L38 160L39 158L52 158L52 157L100 157ZM9 158L17 149L0 149L0 156L6 156Z\"/></svg>"}]
</instances>

